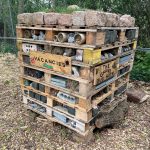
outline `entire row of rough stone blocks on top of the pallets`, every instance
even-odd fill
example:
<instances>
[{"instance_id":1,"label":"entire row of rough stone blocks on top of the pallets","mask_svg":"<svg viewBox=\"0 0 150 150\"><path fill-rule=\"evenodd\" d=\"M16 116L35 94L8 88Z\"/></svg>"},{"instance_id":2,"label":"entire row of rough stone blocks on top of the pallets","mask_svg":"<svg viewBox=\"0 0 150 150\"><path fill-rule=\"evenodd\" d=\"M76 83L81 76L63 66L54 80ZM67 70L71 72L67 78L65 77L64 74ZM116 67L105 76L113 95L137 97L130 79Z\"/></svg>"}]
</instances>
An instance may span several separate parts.
<instances>
[{"instance_id":1,"label":"entire row of rough stone blocks on top of the pallets","mask_svg":"<svg viewBox=\"0 0 150 150\"><path fill-rule=\"evenodd\" d=\"M135 18L130 15L118 15L102 11L75 11L72 14L60 13L23 13L18 15L18 23L25 25L61 25L61 26L100 26L134 27Z\"/></svg>"}]
</instances>

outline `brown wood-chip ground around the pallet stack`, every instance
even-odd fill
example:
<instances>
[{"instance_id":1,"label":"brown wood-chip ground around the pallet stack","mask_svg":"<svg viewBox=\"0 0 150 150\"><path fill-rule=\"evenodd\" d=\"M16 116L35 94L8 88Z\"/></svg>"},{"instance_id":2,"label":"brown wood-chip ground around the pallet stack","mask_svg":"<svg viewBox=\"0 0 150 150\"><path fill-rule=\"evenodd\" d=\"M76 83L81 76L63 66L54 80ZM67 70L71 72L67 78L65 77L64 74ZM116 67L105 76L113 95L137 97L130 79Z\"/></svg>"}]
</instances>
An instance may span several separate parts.
<instances>
[{"instance_id":1,"label":"brown wood-chip ground around the pallet stack","mask_svg":"<svg viewBox=\"0 0 150 150\"><path fill-rule=\"evenodd\" d=\"M117 128L94 133L88 144L72 141L71 131L37 118L30 121L21 103L18 60L0 55L0 150L148 150L150 149L150 99L130 103L125 121ZM136 86L145 88L145 83ZM146 87L150 92L150 87Z\"/></svg>"}]
</instances>

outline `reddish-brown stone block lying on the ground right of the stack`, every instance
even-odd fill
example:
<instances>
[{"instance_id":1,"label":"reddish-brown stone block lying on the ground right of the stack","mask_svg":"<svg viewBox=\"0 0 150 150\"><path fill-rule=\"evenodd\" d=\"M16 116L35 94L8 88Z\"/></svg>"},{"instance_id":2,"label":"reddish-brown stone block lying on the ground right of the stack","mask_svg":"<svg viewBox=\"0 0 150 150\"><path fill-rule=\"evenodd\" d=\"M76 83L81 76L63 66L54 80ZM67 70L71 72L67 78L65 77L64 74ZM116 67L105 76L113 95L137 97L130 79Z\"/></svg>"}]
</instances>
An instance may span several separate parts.
<instances>
[{"instance_id":1,"label":"reddish-brown stone block lying on the ground right of the stack","mask_svg":"<svg viewBox=\"0 0 150 150\"><path fill-rule=\"evenodd\" d=\"M142 103L148 99L149 95L147 95L145 91L141 89L130 88L127 91L127 97L128 101L130 102Z\"/></svg>"}]
</instances>

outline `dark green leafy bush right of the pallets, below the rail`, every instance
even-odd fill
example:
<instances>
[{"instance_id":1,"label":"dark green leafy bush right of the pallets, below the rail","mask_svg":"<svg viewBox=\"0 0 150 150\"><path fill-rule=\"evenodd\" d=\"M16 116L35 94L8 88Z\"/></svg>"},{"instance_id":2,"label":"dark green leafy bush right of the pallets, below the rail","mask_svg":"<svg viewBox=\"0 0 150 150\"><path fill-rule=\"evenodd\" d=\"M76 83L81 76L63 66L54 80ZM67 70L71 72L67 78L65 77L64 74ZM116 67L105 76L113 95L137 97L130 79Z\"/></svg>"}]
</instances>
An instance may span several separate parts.
<instances>
[{"instance_id":1,"label":"dark green leafy bush right of the pallets, below the rail","mask_svg":"<svg viewBox=\"0 0 150 150\"><path fill-rule=\"evenodd\" d=\"M150 82L150 53L137 51L131 78Z\"/></svg>"}]
</instances>

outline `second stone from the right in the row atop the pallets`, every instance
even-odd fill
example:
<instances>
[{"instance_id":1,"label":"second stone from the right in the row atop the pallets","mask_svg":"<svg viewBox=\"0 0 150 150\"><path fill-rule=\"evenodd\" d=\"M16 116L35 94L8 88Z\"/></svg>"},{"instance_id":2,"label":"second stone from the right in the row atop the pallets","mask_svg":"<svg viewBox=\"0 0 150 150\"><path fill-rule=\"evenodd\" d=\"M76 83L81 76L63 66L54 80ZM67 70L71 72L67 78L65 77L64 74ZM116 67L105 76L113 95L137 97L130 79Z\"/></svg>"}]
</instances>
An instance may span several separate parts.
<instances>
[{"instance_id":1,"label":"second stone from the right in the row atop the pallets","mask_svg":"<svg viewBox=\"0 0 150 150\"><path fill-rule=\"evenodd\" d=\"M115 13L106 13L107 21L106 26L107 27L117 27L119 26L120 16Z\"/></svg>"}]
</instances>

